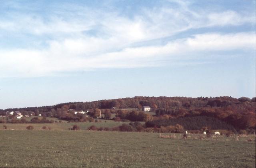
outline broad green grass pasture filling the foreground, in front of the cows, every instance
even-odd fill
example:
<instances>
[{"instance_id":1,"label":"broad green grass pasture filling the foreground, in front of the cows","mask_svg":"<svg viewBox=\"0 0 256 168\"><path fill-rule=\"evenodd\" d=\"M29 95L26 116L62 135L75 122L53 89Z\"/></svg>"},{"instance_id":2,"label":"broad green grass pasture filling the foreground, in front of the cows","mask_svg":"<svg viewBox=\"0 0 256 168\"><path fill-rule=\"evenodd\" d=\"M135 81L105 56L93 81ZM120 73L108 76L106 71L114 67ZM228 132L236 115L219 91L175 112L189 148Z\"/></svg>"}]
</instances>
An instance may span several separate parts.
<instances>
[{"instance_id":1,"label":"broad green grass pasture filling the foreground, in front of the cows","mask_svg":"<svg viewBox=\"0 0 256 168\"><path fill-rule=\"evenodd\" d=\"M0 130L0 167L254 167L255 141L157 133ZM255 139L255 138L254 138Z\"/></svg>"}]
</instances>

